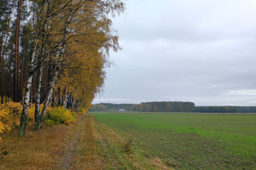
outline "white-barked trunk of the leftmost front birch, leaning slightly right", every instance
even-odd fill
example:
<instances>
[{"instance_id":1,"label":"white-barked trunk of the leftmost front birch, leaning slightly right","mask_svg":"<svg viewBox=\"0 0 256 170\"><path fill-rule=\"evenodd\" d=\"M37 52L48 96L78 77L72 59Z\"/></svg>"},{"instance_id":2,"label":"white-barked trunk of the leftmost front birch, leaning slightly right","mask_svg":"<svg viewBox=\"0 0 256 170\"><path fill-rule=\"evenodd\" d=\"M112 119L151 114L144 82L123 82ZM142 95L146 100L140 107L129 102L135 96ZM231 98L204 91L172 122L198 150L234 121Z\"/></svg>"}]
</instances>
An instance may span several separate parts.
<instances>
[{"instance_id":1,"label":"white-barked trunk of the leftmost front birch, leaning slightly right","mask_svg":"<svg viewBox=\"0 0 256 170\"><path fill-rule=\"evenodd\" d=\"M30 57L30 64L29 64L29 71L27 76L27 82L26 82L26 89L25 89L25 95L24 95L24 104L23 109L20 116L20 129L19 129L19 136L24 136L26 132L26 113L31 93L31 87L32 87L32 78L33 78L33 71L34 71L34 60L36 57L36 51L37 51L37 42L34 45L32 55Z\"/></svg>"}]
</instances>

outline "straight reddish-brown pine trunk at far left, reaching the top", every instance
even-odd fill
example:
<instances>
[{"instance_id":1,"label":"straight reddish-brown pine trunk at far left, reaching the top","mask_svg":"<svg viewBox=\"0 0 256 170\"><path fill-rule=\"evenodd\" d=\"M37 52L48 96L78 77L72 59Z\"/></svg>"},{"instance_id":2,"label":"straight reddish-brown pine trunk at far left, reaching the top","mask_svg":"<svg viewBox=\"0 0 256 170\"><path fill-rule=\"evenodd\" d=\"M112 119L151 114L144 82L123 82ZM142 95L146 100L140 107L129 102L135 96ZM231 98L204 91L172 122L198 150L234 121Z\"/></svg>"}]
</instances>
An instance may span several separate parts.
<instances>
[{"instance_id":1,"label":"straight reddish-brown pine trunk at far left, reaching the top","mask_svg":"<svg viewBox=\"0 0 256 170\"><path fill-rule=\"evenodd\" d=\"M18 0L17 23L15 35L15 81L14 81L14 101L19 101L19 52L20 52L20 12L22 0Z\"/></svg>"}]
</instances>

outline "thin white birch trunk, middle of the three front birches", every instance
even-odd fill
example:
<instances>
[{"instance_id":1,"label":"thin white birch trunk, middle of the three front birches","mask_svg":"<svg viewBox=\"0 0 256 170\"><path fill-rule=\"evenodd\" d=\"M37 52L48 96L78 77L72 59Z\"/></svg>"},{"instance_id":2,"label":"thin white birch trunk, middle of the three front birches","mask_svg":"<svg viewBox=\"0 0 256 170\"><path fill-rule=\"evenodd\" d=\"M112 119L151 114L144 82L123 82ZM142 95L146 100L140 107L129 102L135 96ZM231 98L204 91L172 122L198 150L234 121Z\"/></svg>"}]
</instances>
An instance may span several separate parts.
<instances>
[{"instance_id":1,"label":"thin white birch trunk, middle of the three front birches","mask_svg":"<svg viewBox=\"0 0 256 170\"><path fill-rule=\"evenodd\" d=\"M38 90L36 94L36 103L35 103L35 122L36 123L38 122L39 111L40 111L42 76L43 76L43 65L40 65L38 70Z\"/></svg>"}]
</instances>

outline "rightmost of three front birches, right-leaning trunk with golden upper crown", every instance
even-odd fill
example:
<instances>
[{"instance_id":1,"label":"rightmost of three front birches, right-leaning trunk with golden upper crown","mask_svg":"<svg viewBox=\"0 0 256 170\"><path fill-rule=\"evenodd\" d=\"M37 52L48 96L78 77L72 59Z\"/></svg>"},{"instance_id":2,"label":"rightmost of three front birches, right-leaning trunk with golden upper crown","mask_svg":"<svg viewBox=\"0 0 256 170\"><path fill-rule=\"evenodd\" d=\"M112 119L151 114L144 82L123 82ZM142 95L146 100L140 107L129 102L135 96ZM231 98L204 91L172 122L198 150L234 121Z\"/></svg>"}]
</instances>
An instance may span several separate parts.
<instances>
[{"instance_id":1,"label":"rightmost of three front birches, right-leaning trunk with golden upper crown","mask_svg":"<svg viewBox=\"0 0 256 170\"><path fill-rule=\"evenodd\" d=\"M65 14L65 16L67 16L67 18L64 17L64 29L62 34L61 47L59 47L55 55L56 59L53 77L49 82L49 92L47 94L46 99L44 100L44 108L41 112L41 115L39 116L38 122L36 122L35 130L38 130L41 127L41 124L44 120L46 109L49 105L49 99L52 95L53 88L55 86L56 77L59 74L61 62L63 62L63 59L65 59L64 56L69 40L71 40L73 36L77 35L79 35L79 37L85 38L85 35L89 32L86 32L87 30L84 31L83 29L81 29L81 26L88 26L91 24L90 22L99 25L98 28L102 26L99 30L97 30L100 31L99 35L108 35L110 31L109 26L111 25L111 22L107 19L107 16L110 12L113 12L114 10L122 11L124 9L123 5L124 4L120 1L73 1L71 2L69 9L67 10L67 14L63 13ZM98 32L94 31L94 33ZM106 51L108 52L108 48L110 48L110 46L116 49L116 37L111 37L109 35L106 37L108 37L108 40L102 40L102 42L109 41L109 43L98 44L98 50L100 50L100 48L106 48Z\"/></svg>"}]
</instances>

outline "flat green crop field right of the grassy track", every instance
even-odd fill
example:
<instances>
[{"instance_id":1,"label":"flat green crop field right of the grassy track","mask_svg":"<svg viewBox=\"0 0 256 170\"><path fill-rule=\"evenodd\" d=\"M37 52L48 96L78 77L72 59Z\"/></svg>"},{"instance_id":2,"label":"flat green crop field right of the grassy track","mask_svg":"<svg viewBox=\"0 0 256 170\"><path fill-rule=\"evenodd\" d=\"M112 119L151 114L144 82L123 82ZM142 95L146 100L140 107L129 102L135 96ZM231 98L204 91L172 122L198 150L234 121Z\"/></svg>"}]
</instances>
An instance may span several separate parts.
<instances>
[{"instance_id":1,"label":"flat green crop field right of the grassy track","mask_svg":"<svg viewBox=\"0 0 256 170\"><path fill-rule=\"evenodd\" d=\"M168 167L256 168L256 114L91 114Z\"/></svg>"}]
</instances>

